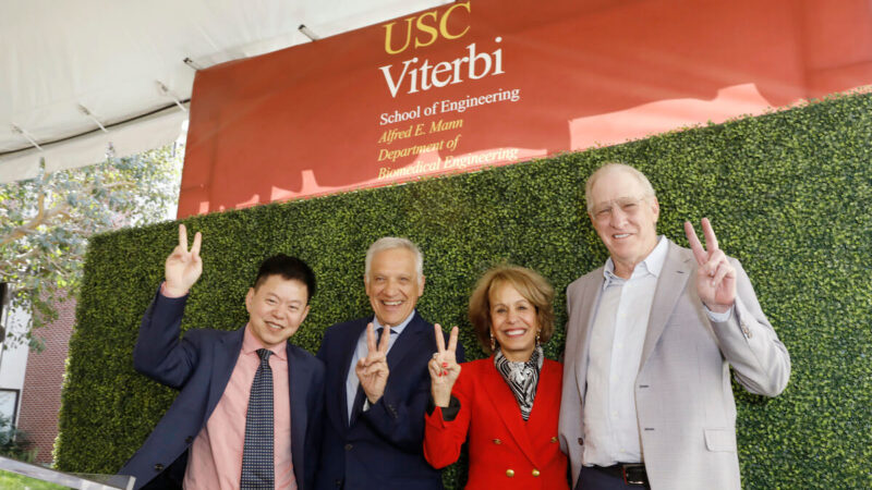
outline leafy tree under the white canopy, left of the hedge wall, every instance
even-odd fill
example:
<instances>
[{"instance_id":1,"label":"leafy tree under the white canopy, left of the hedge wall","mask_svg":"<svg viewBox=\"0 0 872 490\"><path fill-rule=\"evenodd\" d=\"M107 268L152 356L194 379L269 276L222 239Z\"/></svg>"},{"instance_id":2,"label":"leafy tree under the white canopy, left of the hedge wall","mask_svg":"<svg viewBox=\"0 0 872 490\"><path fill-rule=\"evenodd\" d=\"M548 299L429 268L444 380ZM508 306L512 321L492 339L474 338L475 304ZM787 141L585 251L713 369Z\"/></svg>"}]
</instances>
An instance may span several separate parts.
<instances>
[{"instance_id":1,"label":"leafy tree under the white canopy, left of the hedge wall","mask_svg":"<svg viewBox=\"0 0 872 490\"><path fill-rule=\"evenodd\" d=\"M0 282L11 306L32 308L31 324L10 333L41 348L33 331L57 318L55 305L75 296L87 240L125 225L170 219L178 204L182 152L175 146L80 169L40 172L0 184ZM10 329L12 330L12 329Z\"/></svg>"}]
</instances>

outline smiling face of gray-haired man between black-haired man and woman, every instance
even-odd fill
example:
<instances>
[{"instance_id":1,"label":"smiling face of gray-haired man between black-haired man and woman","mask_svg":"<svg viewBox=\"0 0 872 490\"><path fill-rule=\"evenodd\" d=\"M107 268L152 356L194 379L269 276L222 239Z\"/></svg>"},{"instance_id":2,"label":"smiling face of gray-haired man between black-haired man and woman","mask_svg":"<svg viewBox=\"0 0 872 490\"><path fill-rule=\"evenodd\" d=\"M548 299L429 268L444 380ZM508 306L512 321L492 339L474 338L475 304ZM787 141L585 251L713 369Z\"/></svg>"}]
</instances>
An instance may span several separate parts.
<instances>
[{"instance_id":1,"label":"smiling face of gray-haired man between black-haired man and woman","mask_svg":"<svg viewBox=\"0 0 872 490\"><path fill-rule=\"evenodd\" d=\"M366 295L378 322L400 324L424 293L424 277L415 268L415 255L408 248L388 248L373 255L364 278Z\"/></svg>"}]
</instances>

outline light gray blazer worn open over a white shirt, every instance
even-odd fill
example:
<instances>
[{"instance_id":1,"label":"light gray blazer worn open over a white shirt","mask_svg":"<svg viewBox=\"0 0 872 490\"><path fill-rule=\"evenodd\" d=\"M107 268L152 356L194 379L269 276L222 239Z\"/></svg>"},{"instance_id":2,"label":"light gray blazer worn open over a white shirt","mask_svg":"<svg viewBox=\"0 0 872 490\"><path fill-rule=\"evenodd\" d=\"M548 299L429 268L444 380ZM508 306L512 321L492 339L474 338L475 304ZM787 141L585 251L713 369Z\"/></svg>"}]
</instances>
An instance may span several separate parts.
<instances>
[{"instance_id":1,"label":"light gray blazer worn open over a white shirt","mask_svg":"<svg viewBox=\"0 0 872 490\"><path fill-rule=\"evenodd\" d=\"M787 385L790 357L736 259L729 259L737 279L735 315L726 322L713 322L697 295L692 252L671 241L668 245L634 389L651 488L739 489L729 368L748 391L775 396ZM567 289L559 434L560 446L570 458L573 485L584 448L588 340L603 280L601 267Z\"/></svg>"}]
</instances>

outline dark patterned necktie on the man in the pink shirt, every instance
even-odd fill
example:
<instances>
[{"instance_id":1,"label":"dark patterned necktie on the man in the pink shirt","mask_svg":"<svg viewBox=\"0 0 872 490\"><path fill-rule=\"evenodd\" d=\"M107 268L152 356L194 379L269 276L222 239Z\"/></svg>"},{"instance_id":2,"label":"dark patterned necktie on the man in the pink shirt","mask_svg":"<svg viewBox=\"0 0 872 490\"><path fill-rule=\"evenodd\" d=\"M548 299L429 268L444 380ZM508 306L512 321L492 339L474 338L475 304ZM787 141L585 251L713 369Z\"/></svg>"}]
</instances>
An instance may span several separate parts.
<instances>
[{"instance_id":1,"label":"dark patterned necktie on the man in the pink shirt","mask_svg":"<svg viewBox=\"0 0 872 490\"><path fill-rule=\"evenodd\" d=\"M258 348L261 366L254 373L249 413L245 416L245 445L242 448L242 489L272 489L275 461L272 458L272 370L269 368L271 351Z\"/></svg>"}]
</instances>

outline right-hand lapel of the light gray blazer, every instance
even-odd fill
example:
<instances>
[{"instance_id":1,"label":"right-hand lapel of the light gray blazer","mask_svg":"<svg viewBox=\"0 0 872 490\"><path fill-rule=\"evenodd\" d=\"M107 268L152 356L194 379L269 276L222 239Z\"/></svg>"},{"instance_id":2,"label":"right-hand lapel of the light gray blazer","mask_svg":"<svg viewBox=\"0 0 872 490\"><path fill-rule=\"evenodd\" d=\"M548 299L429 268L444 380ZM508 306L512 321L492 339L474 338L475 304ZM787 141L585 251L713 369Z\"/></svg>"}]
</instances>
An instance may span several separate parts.
<instances>
[{"instance_id":1,"label":"right-hand lapel of the light gray blazer","mask_svg":"<svg viewBox=\"0 0 872 490\"><path fill-rule=\"evenodd\" d=\"M687 287L693 270L691 259L692 257L682 254L682 249L669 241L669 249L661 270L661 277L657 279L654 301L651 304L645 343L642 346L642 359L639 363L640 372L651 356L651 352L654 351L654 346L657 345L657 340L659 340L663 329L666 328L666 320L669 319L669 315Z\"/></svg>"}]
</instances>

